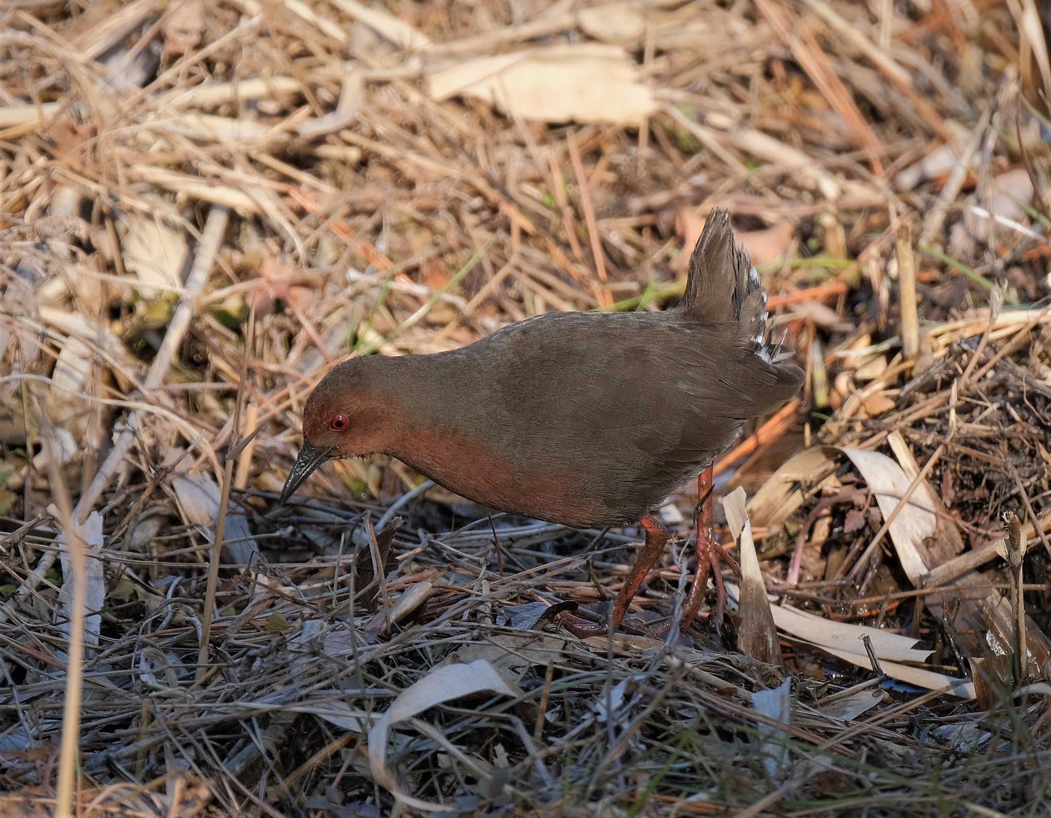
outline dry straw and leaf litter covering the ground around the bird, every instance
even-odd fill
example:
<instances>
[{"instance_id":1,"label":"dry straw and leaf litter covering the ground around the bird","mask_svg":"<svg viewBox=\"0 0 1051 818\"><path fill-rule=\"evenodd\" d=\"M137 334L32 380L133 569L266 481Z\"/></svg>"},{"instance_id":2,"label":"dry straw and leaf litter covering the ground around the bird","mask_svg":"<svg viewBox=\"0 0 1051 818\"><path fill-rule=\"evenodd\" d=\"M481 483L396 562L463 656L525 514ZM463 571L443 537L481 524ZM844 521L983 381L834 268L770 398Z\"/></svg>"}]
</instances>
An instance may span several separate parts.
<instances>
[{"instance_id":1,"label":"dry straw and leaf litter covering the ground around the bird","mask_svg":"<svg viewBox=\"0 0 1051 818\"><path fill-rule=\"evenodd\" d=\"M1051 814L1037 4L595 5L0 7L4 815ZM601 615L636 532L491 528L382 458L276 504L332 364L659 309L715 205L807 370L718 464L822 617L783 667L746 607L638 635L683 539L579 640L539 615Z\"/></svg>"}]
</instances>

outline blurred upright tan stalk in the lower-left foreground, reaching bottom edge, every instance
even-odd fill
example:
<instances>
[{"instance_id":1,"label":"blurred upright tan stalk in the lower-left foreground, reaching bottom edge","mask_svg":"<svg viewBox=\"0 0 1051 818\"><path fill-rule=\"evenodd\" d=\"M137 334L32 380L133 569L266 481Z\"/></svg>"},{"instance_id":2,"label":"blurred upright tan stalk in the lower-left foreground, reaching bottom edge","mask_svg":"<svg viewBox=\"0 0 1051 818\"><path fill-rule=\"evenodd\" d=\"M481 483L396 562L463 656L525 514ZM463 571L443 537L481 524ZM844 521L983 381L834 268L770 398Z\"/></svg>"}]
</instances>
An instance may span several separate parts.
<instances>
[{"instance_id":1,"label":"blurred upright tan stalk in the lower-left foreground, reaching bottom edge","mask_svg":"<svg viewBox=\"0 0 1051 818\"><path fill-rule=\"evenodd\" d=\"M84 605L87 594L87 566L84 558L84 543L74 525L69 508L69 493L66 491L59 469L61 455L53 435L47 435L47 465L51 484L51 496L59 509L62 538L69 552L73 569L73 616L69 620L69 643L66 656L66 692L62 710L62 749L59 754L59 781L56 795L55 815L65 818L73 815L73 789L77 771L77 753L80 744L80 699L84 673ZM69 581L69 578L66 579Z\"/></svg>"}]
</instances>

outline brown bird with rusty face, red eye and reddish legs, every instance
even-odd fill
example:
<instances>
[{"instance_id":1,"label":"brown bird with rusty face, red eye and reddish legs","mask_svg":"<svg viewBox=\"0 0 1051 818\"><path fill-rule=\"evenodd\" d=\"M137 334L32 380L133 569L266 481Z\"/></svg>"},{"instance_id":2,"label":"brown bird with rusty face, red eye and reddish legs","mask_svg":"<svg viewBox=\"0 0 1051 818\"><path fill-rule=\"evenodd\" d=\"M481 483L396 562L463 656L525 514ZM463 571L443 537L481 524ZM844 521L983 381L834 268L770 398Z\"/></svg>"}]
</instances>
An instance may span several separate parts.
<instances>
[{"instance_id":1,"label":"brown bird with rusty face, red eye and reddish legs","mask_svg":"<svg viewBox=\"0 0 1051 818\"><path fill-rule=\"evenodd\" d=\"M747 421L803 384L767 333L766 292L729 213L693 249L685 291L663 311L547 312L444 352L352 357L313 389L285 503L326 461L386 454L491 509L645 541L605 623L570 610L580 637L620 628L671 537L654 515L697 480L698 566L682 628L710 571L725 598L712 517L714 459ZM783 339L782 339L783 341Z\"/></svg>"}]
</instances>

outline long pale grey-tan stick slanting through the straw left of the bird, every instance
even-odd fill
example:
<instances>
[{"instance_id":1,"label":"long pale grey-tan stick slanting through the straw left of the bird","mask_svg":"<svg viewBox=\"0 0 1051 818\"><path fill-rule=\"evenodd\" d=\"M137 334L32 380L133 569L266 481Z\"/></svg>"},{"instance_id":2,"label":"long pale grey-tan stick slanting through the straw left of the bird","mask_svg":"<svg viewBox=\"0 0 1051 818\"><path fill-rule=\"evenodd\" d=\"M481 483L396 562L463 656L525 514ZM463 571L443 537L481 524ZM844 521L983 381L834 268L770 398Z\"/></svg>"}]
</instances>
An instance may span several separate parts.
<instances>
[{"instance_id":1,"label":"long pale grey-tan stick slanting through the straw left of the bird","mask_svg":"<svg viewBox=\"0 0 1051 818\"><path fill-rule=\"evenodd\" d=\"M212 207L208 213L208 222L201 236L201 244L198 248L197 258L193 261L193 268L186 280L186 289L179 301L179 306L171 318L168 331L164 334L164 341L161 342L157 356L153 359L153 363L150 364L149 371L146 373L146 381L143 386L147 393L161 386L171 366L171 361L176 356L176 350L183 343L183 336L186 334L190 320L197 311L198 296L204 290L204 285L208 281L211 263L214 260L215 252L219 250L223 234L226 232L229 212L225 207L217 206ZM131 442L136 438L138 431L139 411L132 410L128 413L125 429L121 432L121 436L117 438L114 448L110 449L106 459L103 461L102 467L74 507L74 523L83 523L87 517L91 507L95 506L95 502L101 496L103 490L106 488L106 484L109 483L127 450L131 447ZM19 596L33 593L37 586L40 585L44 574L55 564L57 556L57 551L46 551L41 555L36 567L29 571L25 577L25 581L18 589ZM0 607L0 622L6 621L9 615L11 608L5 602Z\"/></svg>"}]
</instances>

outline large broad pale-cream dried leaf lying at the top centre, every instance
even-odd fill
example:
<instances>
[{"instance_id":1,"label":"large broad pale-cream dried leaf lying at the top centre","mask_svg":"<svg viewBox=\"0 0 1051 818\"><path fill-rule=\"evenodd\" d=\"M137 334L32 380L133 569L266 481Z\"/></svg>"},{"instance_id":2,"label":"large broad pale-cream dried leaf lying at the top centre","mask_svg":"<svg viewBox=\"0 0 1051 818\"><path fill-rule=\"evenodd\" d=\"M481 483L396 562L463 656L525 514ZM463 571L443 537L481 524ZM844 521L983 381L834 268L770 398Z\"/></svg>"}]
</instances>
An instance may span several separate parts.
<instances>
[{"instance_id":1,"label":"large broad pale-cream dried leaf lying at the top centre","mask_svg":"<svg viewBox=\"0 0 1051 818\"><path fill-rule=\"evenodd\" d=\"M598 43L477 57L431 73L427 84L435 100L477 97L509 116L543 122L638 125L657 110L635 61Z\"/></svg>"}]
</instances>

